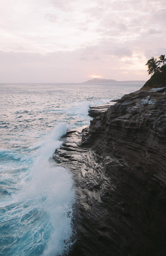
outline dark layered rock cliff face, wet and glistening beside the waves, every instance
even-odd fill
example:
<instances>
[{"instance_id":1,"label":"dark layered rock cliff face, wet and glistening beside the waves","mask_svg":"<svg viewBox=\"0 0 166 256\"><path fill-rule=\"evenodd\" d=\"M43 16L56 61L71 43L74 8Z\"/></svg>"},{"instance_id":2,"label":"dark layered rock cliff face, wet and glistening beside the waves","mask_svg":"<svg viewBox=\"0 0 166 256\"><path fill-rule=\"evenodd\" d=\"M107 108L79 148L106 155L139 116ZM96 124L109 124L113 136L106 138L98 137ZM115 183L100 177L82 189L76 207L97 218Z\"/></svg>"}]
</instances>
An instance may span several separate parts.
<instances>
[{"instance_id":1,"label":"dark layered rock cliff face, wet and glistening beside the waves","mask_svg":"<svg viewBox=\"0 0 166 256\"><path fill-rule=\"evenodd\" d=\"M123 96L56 150L75 181L71 255L165 255L165 90Z\"/></svg>"}]
</instances>

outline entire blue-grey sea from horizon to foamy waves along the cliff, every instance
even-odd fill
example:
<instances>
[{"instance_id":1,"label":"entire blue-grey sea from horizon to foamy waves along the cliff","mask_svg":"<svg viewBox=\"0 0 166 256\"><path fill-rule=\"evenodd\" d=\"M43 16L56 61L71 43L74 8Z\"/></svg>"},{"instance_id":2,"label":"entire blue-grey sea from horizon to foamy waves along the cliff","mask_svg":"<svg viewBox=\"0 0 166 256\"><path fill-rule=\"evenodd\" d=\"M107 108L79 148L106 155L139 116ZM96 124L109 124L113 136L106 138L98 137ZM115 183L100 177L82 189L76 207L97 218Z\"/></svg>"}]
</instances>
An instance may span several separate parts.
<instances>
[{"instance_id":1,"label":"entire blue-grey sea from horizon to foamy waves along the cliff","mask_svg":"<svg viewBox=\"0 0 166 256\"><path fill-rule=\"evenodd\" d=\"M89 124L90 106L142 85L0 84L0 255L67 254L75 191L51 156L67 129Z\"/></svg>"}]
</instances>

